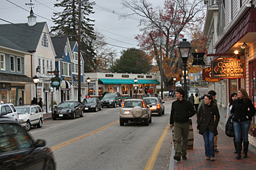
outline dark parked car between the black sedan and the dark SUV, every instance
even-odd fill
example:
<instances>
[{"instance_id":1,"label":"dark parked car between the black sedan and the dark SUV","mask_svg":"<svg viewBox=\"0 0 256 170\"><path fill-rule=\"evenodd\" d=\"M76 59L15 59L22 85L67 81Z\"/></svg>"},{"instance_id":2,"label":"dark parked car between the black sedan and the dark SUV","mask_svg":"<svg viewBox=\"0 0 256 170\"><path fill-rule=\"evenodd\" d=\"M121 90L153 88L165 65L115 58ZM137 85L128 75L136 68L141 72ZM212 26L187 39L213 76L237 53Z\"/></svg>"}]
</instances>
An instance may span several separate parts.
<instances>
[{"instance_id":1,"label":"dark parked car between the black sedan and the dark SUV","mask_svg":"<svg viewBox=\"0 0 256 170\"><path fill-rule=\"evenodd\" d=\"M97 97L83 99L82 104L84 111L98 111L102 110L102 105Z\"/></svg>"}]
</instances>

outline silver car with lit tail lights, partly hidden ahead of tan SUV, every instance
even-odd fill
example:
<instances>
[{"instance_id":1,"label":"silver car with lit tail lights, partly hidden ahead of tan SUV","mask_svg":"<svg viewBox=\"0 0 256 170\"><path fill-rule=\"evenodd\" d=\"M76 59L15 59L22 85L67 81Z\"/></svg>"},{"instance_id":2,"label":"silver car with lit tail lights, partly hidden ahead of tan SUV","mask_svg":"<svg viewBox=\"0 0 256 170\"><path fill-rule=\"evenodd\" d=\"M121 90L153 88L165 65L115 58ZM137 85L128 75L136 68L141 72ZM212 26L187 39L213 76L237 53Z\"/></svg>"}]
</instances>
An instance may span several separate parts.
<instances>
[{"instance_id":1,"label":"silver car with lit tail lights, partly hidden ahead of tan SUV","mask_svg":"<svg viewBox=\"0 0 256 170\"><path fill-rule=\"evenodd\" d=\"M164 102L159 97L145 97L143 99L152 105L152 108L150 108L152 113L158 113L159 117L164 115Z\"/></svg>"}]
</instances>

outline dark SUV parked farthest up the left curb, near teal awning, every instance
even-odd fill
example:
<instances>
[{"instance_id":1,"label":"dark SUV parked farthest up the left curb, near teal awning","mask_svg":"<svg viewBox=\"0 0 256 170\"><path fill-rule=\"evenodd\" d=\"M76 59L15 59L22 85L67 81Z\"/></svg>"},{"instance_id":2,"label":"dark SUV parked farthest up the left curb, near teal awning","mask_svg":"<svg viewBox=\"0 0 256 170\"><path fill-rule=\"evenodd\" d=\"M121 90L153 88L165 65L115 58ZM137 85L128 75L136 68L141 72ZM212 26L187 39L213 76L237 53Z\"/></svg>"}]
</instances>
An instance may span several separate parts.
<instances>
[{"instance_id":1,"label":"dark SUV parked farthest up the left curb, near teal awning","mask_svg":"<svg viewBox=\"0 0 256 170\"><path fill-rule=\"evenodd\" d=\"M103 99L101 99L101 104L102 104L102 108L104 106L107 106L107 107L113 106L114 108L117 105L122 106L122 97L118 92L107 93L105 94Z\"/></svg>"}]
</instances>

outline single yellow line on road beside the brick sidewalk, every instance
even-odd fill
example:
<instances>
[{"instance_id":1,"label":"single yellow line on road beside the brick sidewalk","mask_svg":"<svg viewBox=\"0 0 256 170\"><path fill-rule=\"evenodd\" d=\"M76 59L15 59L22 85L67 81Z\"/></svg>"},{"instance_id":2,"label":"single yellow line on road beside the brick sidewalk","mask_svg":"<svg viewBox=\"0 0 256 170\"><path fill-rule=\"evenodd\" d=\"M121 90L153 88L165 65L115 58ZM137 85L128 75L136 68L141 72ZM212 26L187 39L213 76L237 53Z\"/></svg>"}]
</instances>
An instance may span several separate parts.
<instances>
[{"instance_id":1,"label":"single yellow line on road beside the brick sidewalk","mask_svg":"<svg viewBox=\"0 0 256 170\"><path fill-rule=\"evenodd\" d=\"M167 125L165 127L164 132L163 132L162 136L160 137L160 139L158 140L158 142L157 142L157 144L156 144L156 146L155 146L155 148L154 148L150 158L148 159L148 162L147 162L144 170L146 170L146 169L147 170L153 169L154 164L155 164L156 159L157 159L157 155L158 155L158 153L160 151L160 148L161 148L161 146L163 144L163 141L164 141L164 138L165 138L165 136L166 136L166 134L168 132L168 129L169 129L169 125Z\"/></svg>"}]
</instances>

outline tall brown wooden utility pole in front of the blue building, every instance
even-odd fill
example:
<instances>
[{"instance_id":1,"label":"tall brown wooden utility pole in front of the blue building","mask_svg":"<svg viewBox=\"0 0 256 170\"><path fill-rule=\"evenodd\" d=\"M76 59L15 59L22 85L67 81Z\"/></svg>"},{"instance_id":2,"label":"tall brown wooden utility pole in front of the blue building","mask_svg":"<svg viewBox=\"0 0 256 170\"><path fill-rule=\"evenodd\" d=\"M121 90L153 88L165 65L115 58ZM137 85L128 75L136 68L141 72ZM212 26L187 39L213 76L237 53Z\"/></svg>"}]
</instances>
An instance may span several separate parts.
<instances>
[{"instance_id":1,"label":"tall brown wooden utility pole in front of the blue building","mask_svg":"<svg viewBox=\"0 0 256 170\"><path fill-rule=\"evenodd\" d=\"M78 101L81 102L81 0L78 2Z\"/></svg>"}]
</instances>

